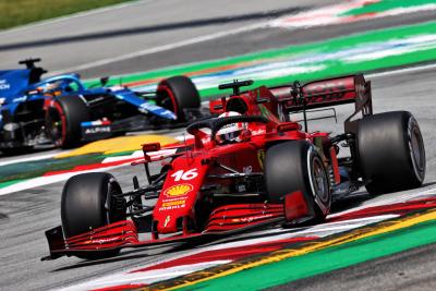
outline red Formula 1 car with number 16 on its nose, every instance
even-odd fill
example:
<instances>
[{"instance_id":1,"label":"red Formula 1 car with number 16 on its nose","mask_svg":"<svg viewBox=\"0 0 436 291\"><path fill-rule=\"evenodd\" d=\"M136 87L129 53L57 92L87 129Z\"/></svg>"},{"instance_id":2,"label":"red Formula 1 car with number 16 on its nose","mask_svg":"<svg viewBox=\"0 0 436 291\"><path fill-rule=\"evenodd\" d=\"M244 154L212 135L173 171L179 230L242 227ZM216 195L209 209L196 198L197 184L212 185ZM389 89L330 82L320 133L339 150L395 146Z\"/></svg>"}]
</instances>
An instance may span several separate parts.
<instances>
[{"instance_id":1,"label":"red Formula 1 car with number 16 on its nose","mask_svg":"<svg viewBox=\"0 0 436 291\"><path fill-rule=\"evenodd\" d=\"M314 223L329 214L336 195L361 186L378 194L422 184L425 153L416 120L407 111L373 114L363 75L240 93L251 84L221 85L233 94L210 102L220 117L187 126L192 142L143 145L144 159L135 163L145 166L148 185L140 186L134 177L134 190L123 193L109 173L71 178L62 193L62 227L46 232L46 258L100 258L123 247ZM349 102L355 111L344 133L307 131L311 112ZM294 113L304 126L292 121ZM162 167L153 174L149 165L157 160ZM150 237L142 240L142 232Z\"/></svg>"}]
</instances>

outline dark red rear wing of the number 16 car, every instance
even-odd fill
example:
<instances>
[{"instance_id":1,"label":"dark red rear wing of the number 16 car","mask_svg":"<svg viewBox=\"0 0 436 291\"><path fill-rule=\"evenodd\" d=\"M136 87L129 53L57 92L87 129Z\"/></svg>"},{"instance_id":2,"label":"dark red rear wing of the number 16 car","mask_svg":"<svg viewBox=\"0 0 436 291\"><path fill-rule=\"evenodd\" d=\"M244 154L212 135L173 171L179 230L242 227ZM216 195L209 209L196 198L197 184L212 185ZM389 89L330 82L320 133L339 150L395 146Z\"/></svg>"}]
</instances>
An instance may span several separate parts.
<instances>
[{"instance_id":1,"label":"dark red rear wing of the number 16 car","mask_svg":"<svg viewBox=\"0 0 436 291\"><path fill-rule=\"evenodd\" d=\"M295 83L269 89L284 116L308 109L355 104L354 112L344 122L346 132L356 131L356 122L351 119L359 112L362 112L362 116L373 114L371 82L365 81L362 74L325 78L302 86Z\"/></svg>"}]
</instances>

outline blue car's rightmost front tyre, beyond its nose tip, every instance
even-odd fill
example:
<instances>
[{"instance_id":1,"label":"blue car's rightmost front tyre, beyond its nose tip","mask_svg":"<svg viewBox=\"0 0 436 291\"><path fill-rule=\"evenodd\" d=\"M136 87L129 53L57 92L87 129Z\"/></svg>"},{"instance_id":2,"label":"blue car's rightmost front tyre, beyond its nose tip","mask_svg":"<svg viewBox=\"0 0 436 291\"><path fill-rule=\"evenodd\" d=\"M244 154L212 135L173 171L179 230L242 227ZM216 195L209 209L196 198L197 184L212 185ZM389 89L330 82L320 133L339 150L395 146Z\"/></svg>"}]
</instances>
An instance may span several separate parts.
<instances>
[{"instance_id":1,"label":"blue car's rightmost front tyre, beyond its nose tip","mask_svg":"<svg viewBox=\"0 0 436 291\"><path fill-rule=\"evenodd\" d=\"M174 112L179 122L186 121L184 109L201 107L198 90L186 76L162 80L158 85L157 96L157 105Z\"/></svg>"}]
</instances>

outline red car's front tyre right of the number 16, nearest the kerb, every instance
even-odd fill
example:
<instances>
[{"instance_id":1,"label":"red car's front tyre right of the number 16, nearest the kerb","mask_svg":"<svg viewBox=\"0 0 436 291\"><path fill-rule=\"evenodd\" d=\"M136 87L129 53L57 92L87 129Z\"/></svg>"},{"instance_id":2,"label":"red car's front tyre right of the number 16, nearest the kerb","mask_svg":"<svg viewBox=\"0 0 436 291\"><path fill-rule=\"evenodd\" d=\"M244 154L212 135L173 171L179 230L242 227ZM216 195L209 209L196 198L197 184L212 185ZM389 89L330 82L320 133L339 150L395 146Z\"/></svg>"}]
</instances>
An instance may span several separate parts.
<instances>
[{"instance_id":1,"label":"red car's front tyre right of the number 16, nearest the kerb","mask_svg":"<svg viewBox=\"0 0 436 291\"><path fill-rule=\"evenodd\" d=\"M265 183L271 203L286 194L302 191L308 197L314 220L322 221L330 210L331 192L323 160L305 141L271 146L265 156Z\"/></svg>"}]
</instances>

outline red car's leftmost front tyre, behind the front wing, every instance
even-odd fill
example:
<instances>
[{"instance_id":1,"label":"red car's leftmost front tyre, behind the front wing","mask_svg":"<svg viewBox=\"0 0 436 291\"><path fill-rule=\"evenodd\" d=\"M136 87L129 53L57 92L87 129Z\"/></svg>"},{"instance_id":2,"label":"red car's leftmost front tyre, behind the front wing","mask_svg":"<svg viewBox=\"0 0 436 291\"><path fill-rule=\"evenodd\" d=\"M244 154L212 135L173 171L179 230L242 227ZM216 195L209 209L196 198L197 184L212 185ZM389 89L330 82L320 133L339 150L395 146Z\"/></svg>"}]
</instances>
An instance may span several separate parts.
<instances>
[{"instance_id":1,"label":"red car's leftmost front tyre, behind the front wing","mask_svg":"<svg viewBox=\"0 0 436 291\"><path fill-rule=\"evenodd\" d=\"M65 238L125 219L121 187L109 173L83 173L70 178L62 192L61 219ZM78 257L96 259L117 255L119 250L83 253Z\"/></svg>"}]
</instances>

